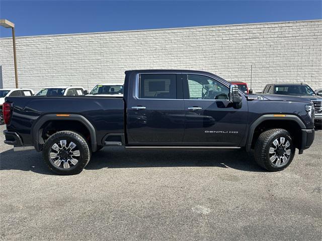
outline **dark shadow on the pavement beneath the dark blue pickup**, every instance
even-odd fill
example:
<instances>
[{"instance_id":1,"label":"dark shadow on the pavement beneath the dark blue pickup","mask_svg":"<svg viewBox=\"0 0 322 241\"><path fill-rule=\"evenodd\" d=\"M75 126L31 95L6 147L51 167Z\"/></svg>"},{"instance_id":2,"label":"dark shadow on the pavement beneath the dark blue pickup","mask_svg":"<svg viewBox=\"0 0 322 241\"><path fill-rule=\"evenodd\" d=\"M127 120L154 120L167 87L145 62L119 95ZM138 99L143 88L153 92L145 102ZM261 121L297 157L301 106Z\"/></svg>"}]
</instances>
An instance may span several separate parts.
<instances>
[{"instance_id":1,"label":"dark shadow on the pavement beneath the dark blue pickup","mask_svg":"<svg viewBox=\"0 0 322 241\"><path fill-rule=\"evenodd\" d=\"M102 168L149 168L149 167L221 167L241 171L265 172L245 151L201 151L201 150L124 150L103 148L93 153L85 169ZM0 154L0 170L32 171L52 175L36 151L14 152L13 149Z\"/></svg>"}]
</instances>

